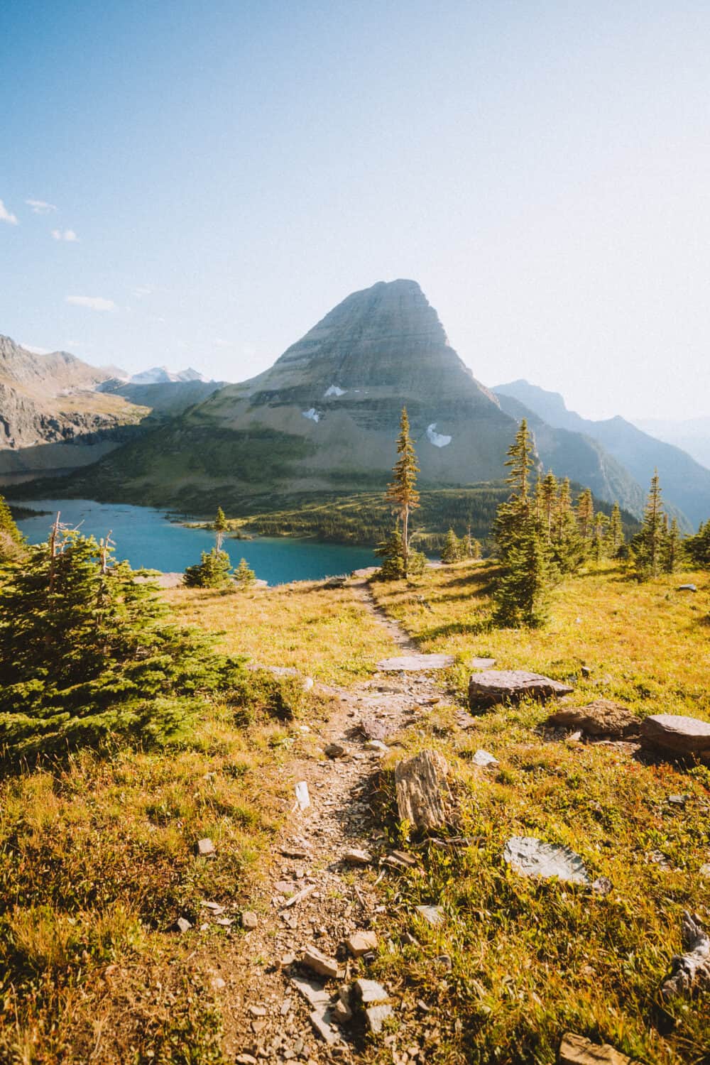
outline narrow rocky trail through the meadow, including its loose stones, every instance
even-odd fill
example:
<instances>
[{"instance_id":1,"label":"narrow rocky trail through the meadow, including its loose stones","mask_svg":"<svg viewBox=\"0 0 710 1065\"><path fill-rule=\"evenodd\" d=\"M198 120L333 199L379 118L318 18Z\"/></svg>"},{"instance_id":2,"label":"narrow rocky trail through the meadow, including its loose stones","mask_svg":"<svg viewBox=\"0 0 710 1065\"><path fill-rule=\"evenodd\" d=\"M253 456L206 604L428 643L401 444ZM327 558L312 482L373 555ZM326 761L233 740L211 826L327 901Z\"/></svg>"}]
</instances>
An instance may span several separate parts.
<instances>
[{"instance_id":1,"label":"narrow rocky trail through the meadow, including its loose stones","mask_svg":"<svg viewBox=\"0 0 710 1065\"><path fill-rule=\"evenodd\" d=\"M366 584L356 588L399 648L415 652L380 615ZM268 905L242 917L248 929L242 971L232 969L230 981L236 988L230 1049L240 1065L356 1061L368 1031L387 1046L390 1060L426 1061L426 1007L408 1023L396 974L383 986L367 971L378 940L387 937L378 884L415 861L387 845L370 791L387 740L444 695L435 673L414 658L409 670L378 671L352 689L321 688L333 712L311 733L314 756L290 766L293 809L274 848ZM213 986L226 987L229 973L213 971ZM387 1032L391 1014L396 1036Z\"/></svg>"}]
</instances>

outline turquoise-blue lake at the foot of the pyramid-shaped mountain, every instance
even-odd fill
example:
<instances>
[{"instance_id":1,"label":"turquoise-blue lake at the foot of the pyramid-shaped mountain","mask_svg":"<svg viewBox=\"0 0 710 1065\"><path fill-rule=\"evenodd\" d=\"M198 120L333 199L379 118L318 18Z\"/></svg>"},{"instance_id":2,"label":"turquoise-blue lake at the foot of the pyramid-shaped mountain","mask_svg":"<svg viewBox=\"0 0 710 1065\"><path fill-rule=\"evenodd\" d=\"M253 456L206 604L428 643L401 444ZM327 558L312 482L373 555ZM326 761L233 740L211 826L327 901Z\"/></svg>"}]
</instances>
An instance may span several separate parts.
<instances>
[{"instance_id":1,"label":"turquoise-blue lake at the foot of the pyramid-shaped mountain","mask_svg":"<svg viewBox=\"0 0 710 1065\"><path fill-rule=\"evenodd\" d=\"M146 567L164 573L181 572L186 566L199 562L200 552L209 551L214 545L214 532L185 528L169 521L165 511L152 507L95 503L92 499L23 499L21 506L49 511L18 522L30 543L47 540L49 527L59 510L64 524L79 526L87 536L99 539L111 531L111 538L116 543L116 558L128 559L134 569ZM225 550L234 566L241 558L246 558L257 576L269 585L318 580L373 566L376 561L369 547L285 537L226 539Z\"/></svg>"}]
</instances>

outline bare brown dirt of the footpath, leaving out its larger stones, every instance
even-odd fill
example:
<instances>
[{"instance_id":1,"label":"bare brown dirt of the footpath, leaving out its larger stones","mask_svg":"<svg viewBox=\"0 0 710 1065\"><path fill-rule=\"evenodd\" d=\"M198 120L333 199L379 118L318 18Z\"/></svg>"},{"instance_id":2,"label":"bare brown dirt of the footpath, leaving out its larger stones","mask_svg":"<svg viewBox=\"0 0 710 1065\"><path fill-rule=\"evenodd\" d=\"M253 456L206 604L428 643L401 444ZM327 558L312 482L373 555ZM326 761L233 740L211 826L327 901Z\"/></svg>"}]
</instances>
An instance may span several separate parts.
<instances>
[{"instance_id":1,"label":"bare brown dirt of the footpath, leaving out its larger stones","mask_svg":"<svg viewBox=\"0 0 710 1065\"><path fill-rule=\"evenodd\" d=\"M397 645L415 651L407 634L376 607L366 584L358 583L354 588L365 609L378 617ZM275 845L265 889L268 904L259 914L258 928L244 937L241 971L232 970L231 986L225 992L233 1020L228 1049L245 1065L358 1060L352 1026L331 1023L324 1029L324 1039L310 1016L314 1003L292 978L311 979L314 988L325 984L327 995L333 995L341 984L367 977L366 960L356 962L343 950L354 932L373 930L380 938L386 937L386 913L375 886L377 859L385 848L367 801L383 752L368 749L371 740L366 734L391 738L443 697L435 675L419 672L377 673L353 689L323 690L332 698L332 715L312 730L317 739L315 756L288 767L296 782L306 782L310 806L292 813ZM345 754L324 758L321 752L329 743L341 744ZM374 863L367 867L344 863L343 855L352 849L368 851ZM288 905L294 894L300 901ZM299 966L303 949L311 946L329 958L337 957L343 978L324 980ZM296 964L290 956L295 956ZM215 970L217 983L227 977ZM313 997L313 988L309 994ZM396 1012L396 1000L393 1004ZM379 1036L393 1044L392 1060L424 1062L404 1018L398 1016L398 1021L396 1043L400 1047L403 1041L408 1051L395 1050L395 1036Z\"/></svg>"}]
</instances>

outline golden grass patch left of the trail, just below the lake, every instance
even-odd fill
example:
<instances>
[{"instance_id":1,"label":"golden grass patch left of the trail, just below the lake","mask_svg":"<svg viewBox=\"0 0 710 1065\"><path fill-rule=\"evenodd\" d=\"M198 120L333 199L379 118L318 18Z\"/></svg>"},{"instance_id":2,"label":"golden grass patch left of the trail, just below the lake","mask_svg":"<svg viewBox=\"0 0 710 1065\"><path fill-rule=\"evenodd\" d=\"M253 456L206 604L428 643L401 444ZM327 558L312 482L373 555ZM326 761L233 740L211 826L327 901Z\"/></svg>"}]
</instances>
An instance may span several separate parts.
<instances>
[{"instance_id":1,"label":"golden grass patch left of the trail, just below the lake","mask_svg":"<svg viewBox=\"0 0 710 1065\"><path fill-rule=\"evenodd\" d=\"M230 593L179 588L166 596L181 622L224 632L226 651L264 666L292 666L326 683L353 684L394 653L348 587L299 581Z\"/></svg>"}]
</instances>

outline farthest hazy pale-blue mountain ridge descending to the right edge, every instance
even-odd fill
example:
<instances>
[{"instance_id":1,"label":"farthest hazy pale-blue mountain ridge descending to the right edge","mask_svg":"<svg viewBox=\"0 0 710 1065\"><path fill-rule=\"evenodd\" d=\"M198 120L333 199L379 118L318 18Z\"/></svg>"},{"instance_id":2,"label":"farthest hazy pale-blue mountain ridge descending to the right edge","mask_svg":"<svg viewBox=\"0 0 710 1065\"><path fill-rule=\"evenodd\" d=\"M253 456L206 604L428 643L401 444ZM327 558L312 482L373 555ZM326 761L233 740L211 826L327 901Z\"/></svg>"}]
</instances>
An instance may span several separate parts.
<instances>
[{"instance_id":1,"label":"farthest hazy pale-blue mountain ridge descending to the right edge","mask_svg":"<svg viewBox=\"0 0 710 1065\"><path fill-rule=\"evenodd\" d=\"M552 428L580 432L598 441L631 474L644 493L657 469L664 498L693 526L710 517L710 470L690 455L638 429L623 417L594 422L567 410L562 396L528 381L499 384L496 395L512 396Z\"/></svg>"}]
</instances>

